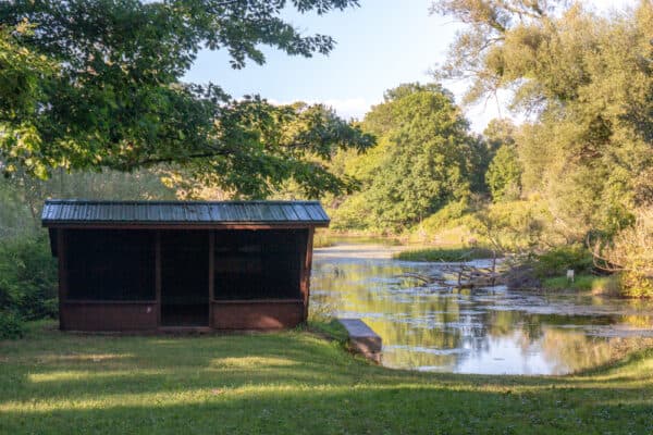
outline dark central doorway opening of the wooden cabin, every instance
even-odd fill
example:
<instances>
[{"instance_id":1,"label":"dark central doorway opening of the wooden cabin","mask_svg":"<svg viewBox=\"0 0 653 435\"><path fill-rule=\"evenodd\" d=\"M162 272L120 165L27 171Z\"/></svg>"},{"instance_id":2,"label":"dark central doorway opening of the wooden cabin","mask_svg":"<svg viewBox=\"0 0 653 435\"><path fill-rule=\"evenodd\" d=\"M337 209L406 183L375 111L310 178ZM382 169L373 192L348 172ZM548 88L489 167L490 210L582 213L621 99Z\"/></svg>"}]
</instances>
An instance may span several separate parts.
<instances>
[{"instance_id":1,"label":"dark central doorway opening of the wooden cabin","mask_svg":"<svg viewBox=\"0 0 653 435\"><path fill-rule=\"evenodd\" d=\"M161 325L209 325L209 234L161 233Z\"/></svg>"}]
</instances>

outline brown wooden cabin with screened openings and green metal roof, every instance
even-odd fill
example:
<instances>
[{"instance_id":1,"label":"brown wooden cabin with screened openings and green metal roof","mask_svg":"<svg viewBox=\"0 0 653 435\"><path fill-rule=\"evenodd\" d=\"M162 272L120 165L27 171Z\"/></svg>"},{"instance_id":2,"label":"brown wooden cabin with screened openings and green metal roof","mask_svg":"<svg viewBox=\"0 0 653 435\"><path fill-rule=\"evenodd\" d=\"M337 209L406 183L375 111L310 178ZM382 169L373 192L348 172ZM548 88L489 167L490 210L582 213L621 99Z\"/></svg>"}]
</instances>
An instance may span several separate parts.
<instances>
[{"instance_id":1,"label":"brown wooden cabin with screened openings and green metal roof","mask_svg":"<svg viewBox=\"0 0 653 435\"><path fill-rule=\"evenodd\" d=\"M268 330L306 321L315 201L48 200L64 331Z\"/></svg>"}]
</instances>

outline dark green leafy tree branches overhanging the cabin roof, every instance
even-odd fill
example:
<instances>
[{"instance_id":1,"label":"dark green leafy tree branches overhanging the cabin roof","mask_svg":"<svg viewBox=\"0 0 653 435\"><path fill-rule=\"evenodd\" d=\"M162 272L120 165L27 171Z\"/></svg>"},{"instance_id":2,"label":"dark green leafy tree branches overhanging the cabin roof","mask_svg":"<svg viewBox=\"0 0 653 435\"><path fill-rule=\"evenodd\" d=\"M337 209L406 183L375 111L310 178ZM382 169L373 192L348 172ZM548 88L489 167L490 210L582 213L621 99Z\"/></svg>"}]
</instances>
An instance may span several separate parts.
<instances>
[{"instance_id":1,"label":"dark green leafy tree branches overhanging the cabin roof","mask_svg":"<svg viewBox=\"0 0 653 435\"><path fill-rule=\"evenodd\" d=\"M181 82L202 47L227 50L235 69L248 60L263 63L260 46L293 55L329 53L331 37L303 36L281 20L286 3L2 2L0 62L14 64L0 69L3 172L46 177L56 167L133 171L172 164L189 183L247 197L263 197L285 179L295 179L308 196L349 190L324 162L336 148L362 151L373 138L333 111L319 104L275 107L259 97L234 100L218 85ZM292 4L323 14L357 3ZM29 32L12 30L20 26ZM7 89L12 77L24 89Z\"/></svg>"}]
</instances>

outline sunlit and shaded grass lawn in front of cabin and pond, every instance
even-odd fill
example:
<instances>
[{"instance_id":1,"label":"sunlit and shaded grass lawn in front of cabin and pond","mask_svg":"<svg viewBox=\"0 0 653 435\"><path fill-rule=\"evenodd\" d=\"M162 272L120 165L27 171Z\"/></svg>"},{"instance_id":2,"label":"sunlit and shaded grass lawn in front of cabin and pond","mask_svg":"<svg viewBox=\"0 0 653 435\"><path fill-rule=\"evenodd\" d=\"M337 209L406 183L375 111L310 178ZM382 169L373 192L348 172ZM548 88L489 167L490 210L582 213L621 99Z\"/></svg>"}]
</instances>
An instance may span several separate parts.
<instances>
[{"instance_id":1,"label":"sunlit and shaded grass lawn in front of cabin and pond","mask_svg":"<svg viewBox=\"0 0 653 435\"><path fill-rule=\"evenodd\" d=\"M574 376L426 374L300 331L119 337L41 323L0 343L0 433L650 434L653 351Z\"/></svg>"}]
</instances>

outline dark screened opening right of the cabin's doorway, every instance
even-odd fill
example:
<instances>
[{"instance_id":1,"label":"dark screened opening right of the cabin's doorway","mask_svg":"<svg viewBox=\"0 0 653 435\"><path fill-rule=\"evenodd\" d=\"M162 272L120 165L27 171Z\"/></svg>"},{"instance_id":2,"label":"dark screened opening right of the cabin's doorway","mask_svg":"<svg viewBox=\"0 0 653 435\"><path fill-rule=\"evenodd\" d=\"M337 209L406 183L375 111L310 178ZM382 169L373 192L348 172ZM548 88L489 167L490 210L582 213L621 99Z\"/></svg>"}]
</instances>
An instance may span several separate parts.
<instances>
[{"instance_id":1,"label":"dark screened opening right of the cabin's doorway","mask_svg":"<svg viewBox=\"0 0 653 435\"><path fill-rule=\"evenodd\" d=\"M214 297L299 299L308 231L215 232Z\"/></svg>"}]
</instances>

